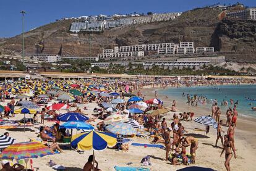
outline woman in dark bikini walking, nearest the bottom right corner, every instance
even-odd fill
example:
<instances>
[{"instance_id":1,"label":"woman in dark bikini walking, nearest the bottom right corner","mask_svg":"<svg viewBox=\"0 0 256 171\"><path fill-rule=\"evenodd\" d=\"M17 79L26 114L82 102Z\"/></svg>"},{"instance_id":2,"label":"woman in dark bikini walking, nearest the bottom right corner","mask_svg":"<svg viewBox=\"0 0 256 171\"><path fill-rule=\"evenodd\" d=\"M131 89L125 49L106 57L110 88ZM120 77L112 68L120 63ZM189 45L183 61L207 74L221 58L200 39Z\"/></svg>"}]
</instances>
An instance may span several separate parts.
<instances>
[{"instance_id":1,"label":"woman in dark bikini walking, nearest the bottom right corner","mask_svg":"<svg viewBox=\"0 0 256 171\"><path fill-rule=\"evenodd\" d=\"M222 156L223 152L225 151L225 167L228 171L230 171L230 165L229 165L229 162L233 156L232 154L232 151L234 152L234 157L236 159L236 150L234 149L234 145L233 143L231 142L231 140L229 140L229 136L228 135L224 135L224 148L223 150L221 151L221 155L220 157Z\"/></svg>"}]
</instances>

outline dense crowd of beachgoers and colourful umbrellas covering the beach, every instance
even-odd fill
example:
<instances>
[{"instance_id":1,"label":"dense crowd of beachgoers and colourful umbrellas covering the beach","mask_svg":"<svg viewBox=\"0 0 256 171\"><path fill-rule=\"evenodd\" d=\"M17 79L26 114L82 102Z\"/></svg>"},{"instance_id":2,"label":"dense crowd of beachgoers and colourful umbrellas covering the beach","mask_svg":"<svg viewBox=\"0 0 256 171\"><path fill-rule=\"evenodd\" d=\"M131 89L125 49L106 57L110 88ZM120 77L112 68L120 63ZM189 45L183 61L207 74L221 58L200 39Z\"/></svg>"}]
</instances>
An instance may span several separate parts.
<instances>
[{"instance_id":1,"label":"dense crowd of beachgoers and colourful umbrellas covering the beach","mask_svg":"<svg viewBox=\"0 0 256 171\"><path fill-rule=\"evenodd\" d=\"M24 130L33 130L38 136L29 137L30 142L45 144L46 148L52 153L64 152L61 155L65 155L67 150L67 148L62 149L63 144L69 144L70 148L79 153L83 153L86 149L100 149L97 144L94 144L95 142L87 142L96 141L91 140L96 135L102 138L108 148L119 151L129 151L129 144L126 141L135 137L147 137L149 138L147 144L132 143L131 145L163 148L166 151L166 155L163 156L166 162L186 167L186 165L197 163L198 138L185 135L188 130L184 127L183 122L194 120L195 113L180 112L175 100L169 102L169 104L164 104L157 91L154 91L153 98L147 99L147 96L143 94L143 88L239 85L241 83L254 84L256 80L205 80L203 78L187 80L180 78L7 80L2 81L0 87L0 128L9 130L6 130L2 135L5 138L12 137L12 128L22 129L24 127ZM182 96L187 96L187 103L190 106L197 106L197 101L206 100L205 97L196 94L192 97L189 94L182 94ZM93 109L88 109L89 104L94 105ZM205 124L207 130L211 126L216 127L215 146L217 146L218 140L221 140L223 150L220 155L225 152L224 166L227 170L230 170L229 162L233 155L236 158L237 151L234 141L237 111L236 104L234 102L233 104L233 109L229 108L226 111L225 123L220 119L220 107L218 107L216 101L212 104L211 115L198 117L199 120L197 120L197 122ZM17 120L19 114L24 114L24 118ZM171 115L171 122L165 118L166 114ZM70 127L72 124L75 126ZM79 124L84 125L80 126ZM225 135L223 135L223 126L228 127ZM70 128L77 129L79 134L74 134L70 131ZM87 135L90 135L92 131L95 136L83 139L87 138ZM100 135L100 133L106 134ZM109 136L109 138L106 138L106 136ZM111 138L114 138L114 140ZM97 139L97 141L100 141L100 139ZM108 141L111 141L111 143ZM0 141L2 170L23 170L24 165L11 164L11 160L15 159L14 155L7 156L5 153L9 150L8 148L15 144L12 143L1 148ZM83 143L87 144L87 148ZM92 147L89 148L88 144ZM188 152L187 148L189 148ZM21 159L24 158L26 157ZM54 163L49 163L49 165L54 167ZM98 164L95 157L90 156L83 170L100 170L100 165L104 165L104 163ZM148 169L150 165L150 156L143 157L141 167ZM122 170L121 167L119 169ZM125 170L125 168L123 169Z\"/></svg>"}]
</instances>

